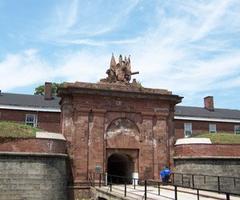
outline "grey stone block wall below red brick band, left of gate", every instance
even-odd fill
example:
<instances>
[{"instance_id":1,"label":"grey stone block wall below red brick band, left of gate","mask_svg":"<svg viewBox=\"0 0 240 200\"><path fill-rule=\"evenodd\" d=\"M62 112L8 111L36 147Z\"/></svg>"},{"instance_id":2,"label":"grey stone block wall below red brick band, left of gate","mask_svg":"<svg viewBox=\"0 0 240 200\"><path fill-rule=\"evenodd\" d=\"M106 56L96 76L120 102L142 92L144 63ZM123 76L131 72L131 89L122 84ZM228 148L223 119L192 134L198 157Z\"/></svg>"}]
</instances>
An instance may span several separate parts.
<instances>
[{"instance_id":1,"label":"grey stone block wall below red brick band, left of gate","mask_svg":"<svg viewBox=\"0 0 240 200\"><path fill-rule=\"evenodd\" d=\"M0 153L0 200L67 200L65 159Z\"/></svg>"}]
</instances>

